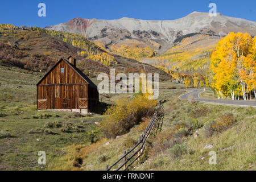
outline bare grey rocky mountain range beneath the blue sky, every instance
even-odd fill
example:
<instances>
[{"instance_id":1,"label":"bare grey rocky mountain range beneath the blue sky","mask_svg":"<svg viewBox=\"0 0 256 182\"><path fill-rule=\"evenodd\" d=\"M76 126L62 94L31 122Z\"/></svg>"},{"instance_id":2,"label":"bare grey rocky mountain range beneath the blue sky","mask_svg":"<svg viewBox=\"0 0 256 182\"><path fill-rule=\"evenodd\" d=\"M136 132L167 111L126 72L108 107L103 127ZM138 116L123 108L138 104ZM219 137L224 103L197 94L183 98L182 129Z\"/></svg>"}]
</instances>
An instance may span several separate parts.
<instances>
[{"instance_id":1,"label":"bare grey rocky mountain range beneath the blue sky","mask_svg":"<svg viewBox=\"0 0 256 182\"><path fill-rule=\"evenodd\" d=\"M84 35L98 46L114 52L121 53L125 48L131 49L137 46L141 48L139 51L142 52L142 56L154 56L155 53L167 51L177 40L192 33L225 36L228 32L240 31L255 36L256 22L232 18L220 13L217 13L216 17L210 17L208 13L195 11L176 20L75 18L46 29ZM121 46L122 51L118 51L117 46ZM134 50L136 51L138 52Z\"/></svg>"}]
</instances>

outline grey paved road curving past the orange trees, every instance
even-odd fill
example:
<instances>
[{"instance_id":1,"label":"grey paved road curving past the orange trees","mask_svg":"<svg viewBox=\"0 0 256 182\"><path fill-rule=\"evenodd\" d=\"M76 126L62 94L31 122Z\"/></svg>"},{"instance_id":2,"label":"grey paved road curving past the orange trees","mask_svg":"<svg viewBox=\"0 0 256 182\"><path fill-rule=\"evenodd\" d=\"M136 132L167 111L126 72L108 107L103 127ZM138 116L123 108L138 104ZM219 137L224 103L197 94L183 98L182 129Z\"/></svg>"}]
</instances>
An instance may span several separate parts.
<instances>
[{"instance_id":1,"label":"grey paved road curving past the orange trees","mask_svg":"<svg viewBox=\"0 0 256 182\"><path fill-rule=\"evenodd\" d=\"M195 101L199 102L210 102L213 104L225 104L225 105L236 105L236 106L246 106L246 107L256 107L256 101L233 101L233 100L210 100L205 98L200 98L199 94L204 92L204 90L189 90L188 93L185 93L179 96L180 99L189 100L191 96L195 98Z\"/></svg>"}]
</instances>

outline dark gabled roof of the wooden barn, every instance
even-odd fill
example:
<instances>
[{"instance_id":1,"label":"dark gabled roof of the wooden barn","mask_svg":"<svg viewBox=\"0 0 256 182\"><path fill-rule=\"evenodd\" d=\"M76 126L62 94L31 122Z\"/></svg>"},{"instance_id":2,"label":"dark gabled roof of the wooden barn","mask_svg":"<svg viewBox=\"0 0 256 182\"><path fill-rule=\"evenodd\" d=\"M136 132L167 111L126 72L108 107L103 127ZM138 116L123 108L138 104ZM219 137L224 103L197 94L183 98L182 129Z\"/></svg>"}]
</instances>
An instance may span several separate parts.
<instances>
[{"instance_id":1,"label":"dark gabled roof of the wooden barn","mask_svg":"<svg viewBox=\"0 0 256 182\"><path fill-rule=\"evenodd\" d=\"M71 56L69 56L71 57ZM61 58L59 61L57 61L57 63L55 63L55 65L53 65L53 67L51 69L49 69L49 71L46 73L46 75L43 76L43 78L41 78L41 80L36 84L39 85L41 81L44 80L44 78L46 78L46 76L57 66L57 64L60 63L61 60L64 60L79 76L81 76L90 86L94 87L97 89L97 86L92 82L92 80L90 80L90 78L88 78L80 69L74 67L73 64L69 63L69 61L65 58Z\"/></svg>"}]
</instances>

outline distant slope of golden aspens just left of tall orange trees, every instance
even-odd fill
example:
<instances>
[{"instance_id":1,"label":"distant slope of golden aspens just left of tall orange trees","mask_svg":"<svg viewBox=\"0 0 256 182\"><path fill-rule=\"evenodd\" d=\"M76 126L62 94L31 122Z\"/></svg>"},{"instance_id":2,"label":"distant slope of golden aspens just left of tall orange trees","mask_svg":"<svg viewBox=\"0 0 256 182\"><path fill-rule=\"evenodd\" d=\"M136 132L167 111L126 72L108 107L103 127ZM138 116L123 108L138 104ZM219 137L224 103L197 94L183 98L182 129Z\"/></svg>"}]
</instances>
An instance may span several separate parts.
<instances>
[{"instance_id":1,"label":"distant slope of golden aspens just left of tall orange trees","mask_svg":"<svg viewBox=\"0 0 256 182\"><path fill-rule=\"evenodd\" d=\"M162 55L146 57L141 62L176 73L204 74L210 63L210 55L220 39L218 36L192 34L180 42L177 40Z\"/></svg>"}]
</instances>

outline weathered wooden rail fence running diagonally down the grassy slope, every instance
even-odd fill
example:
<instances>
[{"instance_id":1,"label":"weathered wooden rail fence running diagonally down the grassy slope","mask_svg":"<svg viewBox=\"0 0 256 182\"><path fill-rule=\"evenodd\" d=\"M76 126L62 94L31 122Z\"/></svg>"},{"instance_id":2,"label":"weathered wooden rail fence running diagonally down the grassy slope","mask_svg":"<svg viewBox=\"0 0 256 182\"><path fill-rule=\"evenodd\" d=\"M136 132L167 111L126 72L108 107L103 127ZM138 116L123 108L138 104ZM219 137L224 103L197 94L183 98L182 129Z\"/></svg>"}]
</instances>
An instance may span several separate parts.
<instances>
[{"instance_id":1,"label":"weathered wooden rail fence running diagonally down the grassy slope","mask_svg":"<svg viewBox=\"0 0 256 182\"><path fill-rule=\"evenodd\" d=\"M110 171L110 169L112 169L114 166L116 166L117 164L119 164L120 162L123 161L123 163L121 163L120 166L118 166L117 169L115 169L116 171L119 171L121 168L123 168L123 170L125 171L127 168L129 168L136 160L141 160L141 155L143 154L143 151L146 148L146 142L148 137L150 136L150 134L152 133L152 131L154 130L155 127L155 123L158 119L158 114L160 109L162 108L162 101L159 101L159 106L156 109L154 115L152 116L150 123L148 123L147 128L144 130L143 134L139 137L138 139L138 143L135 144L135 146L133 148L131 148L131 150L129 151L124 151L124 155L121 156L121 158L119 158L116 162L114 162L114 164L112 164L112 166L106 166L106 171ZM137 149L138 148L138 149ZM137 149L137 150L136 150ZM131 154L131 155L130 155ZM137 156L136 156L137 155ZM136 156L134 158L134 156ZM133 159L134 158L134 159ZM133 160L131 160L133 159ZM130 163L129 163L130 162Z\"/></svg>"}]
</instances>

